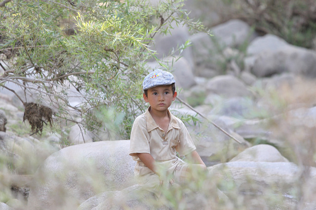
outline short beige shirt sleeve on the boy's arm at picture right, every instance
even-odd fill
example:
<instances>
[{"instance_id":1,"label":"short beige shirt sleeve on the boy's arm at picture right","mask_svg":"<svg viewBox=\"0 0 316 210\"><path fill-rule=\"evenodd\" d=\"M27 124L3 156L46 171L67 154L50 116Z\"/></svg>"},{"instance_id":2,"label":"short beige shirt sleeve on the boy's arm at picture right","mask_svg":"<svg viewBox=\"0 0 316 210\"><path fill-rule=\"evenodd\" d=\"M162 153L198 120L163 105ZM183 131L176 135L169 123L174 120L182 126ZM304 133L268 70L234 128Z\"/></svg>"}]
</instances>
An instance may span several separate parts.
<instances>
[{"instance_id":1,"label":"short beige shirt sleeve on the boy's arm at picture right","mask_svg":"<svg viewBox=\"0 0 316 210\"><path fill-rule=\"evenodd\" d=\"M180 144L177 146L176 149L179 152L180 156L184 156L196 150L197 147L194 145L194 142L184 123L180 119L178 123L180 126Z\"/></svg>"}]
</instances>

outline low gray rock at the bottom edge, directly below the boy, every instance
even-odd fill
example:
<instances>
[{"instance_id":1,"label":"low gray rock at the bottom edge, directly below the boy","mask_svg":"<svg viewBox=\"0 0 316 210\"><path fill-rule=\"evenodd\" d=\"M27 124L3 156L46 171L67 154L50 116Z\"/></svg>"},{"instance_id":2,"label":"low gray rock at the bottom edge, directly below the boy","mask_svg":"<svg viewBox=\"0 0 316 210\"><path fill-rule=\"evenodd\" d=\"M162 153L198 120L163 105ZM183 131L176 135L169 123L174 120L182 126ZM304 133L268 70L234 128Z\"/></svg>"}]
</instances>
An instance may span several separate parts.
<instances>
[{"instance_id":1,"label":"low gray rock at the bottom edge, directly below the boy","mask_svg":"<svg viewBox=\"0 0 316 210\"><path fill-rule=\"evenodd\" d=\"M201 192L202 189L174 184L162 189L159 199L136 184L120 191L105 192L94 196L83 202L78 210L209 209L210 205L216 205L213 201L218 202L219 197L222 198L225 195L215 188L215 185L209 184L209 180L206 182L207 189L204 193ZM213 195L210 196L208 191L213 192Z\"/></svg>"}]
</instances>

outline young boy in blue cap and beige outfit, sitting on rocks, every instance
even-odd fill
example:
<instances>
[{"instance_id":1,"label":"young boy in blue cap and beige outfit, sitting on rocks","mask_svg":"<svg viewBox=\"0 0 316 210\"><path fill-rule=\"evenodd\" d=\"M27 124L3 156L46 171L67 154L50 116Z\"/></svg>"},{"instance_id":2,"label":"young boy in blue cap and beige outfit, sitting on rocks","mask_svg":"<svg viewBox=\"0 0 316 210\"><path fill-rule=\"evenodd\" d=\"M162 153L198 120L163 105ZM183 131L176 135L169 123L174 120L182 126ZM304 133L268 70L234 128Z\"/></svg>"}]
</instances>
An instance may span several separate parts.
<instances>
[{"instance_id":1,"label":"young boy in blue cap and beige outfit, sitting on rocks","mask_svg":"<svg viewBox=\"0 0 316 210\"><path fill-rule=\"evenodd\" d=\"M159 197L161 184L181 183L190 171L206 170L206 166L183 122L168 110L177 96L173 75L155 70L145 77L143 90L150 106L134 121L129 155L137 161L134 173L138 183ZM176 152L194 164L178 159Z\"/></svg>"}]
</instances>

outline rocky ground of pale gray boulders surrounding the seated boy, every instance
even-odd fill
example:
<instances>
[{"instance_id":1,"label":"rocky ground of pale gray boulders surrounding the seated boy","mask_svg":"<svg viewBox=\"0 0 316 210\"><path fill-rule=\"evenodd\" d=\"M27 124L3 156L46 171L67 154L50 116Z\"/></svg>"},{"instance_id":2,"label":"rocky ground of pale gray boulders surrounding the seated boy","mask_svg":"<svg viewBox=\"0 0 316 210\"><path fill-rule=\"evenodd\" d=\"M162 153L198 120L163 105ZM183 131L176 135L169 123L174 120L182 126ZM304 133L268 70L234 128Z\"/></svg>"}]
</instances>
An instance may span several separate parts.
<instances>
[{"instance_id":1,"label":"rocky ground of pale gray boulders surrounding the seated boy","mask_svg":"<svg viewBox=\"0 0 316 210\"><path fill-rule=\"evenodd\" d=\"M180 102L170 109L199 120L187 127L209 171L200 177L204 184L188 185L180 196L177 187L169 191L171 200L165 192L166 206L157 208L316 209L316 51L275 35L258 36L240 20L211 31L213 37L175 27L172 35L156 40L161 58L192 41L173 73L179 98L195 110ZM87 131L84 143L76 126L40 137L30 135L22 121L22 105L1 89L0 160L9 164L1 166L0 209L153 207L133 180L129 140L105 135L97 141ZM63 148L65 136L72 146Z\"/></svg>"}]
</instances>

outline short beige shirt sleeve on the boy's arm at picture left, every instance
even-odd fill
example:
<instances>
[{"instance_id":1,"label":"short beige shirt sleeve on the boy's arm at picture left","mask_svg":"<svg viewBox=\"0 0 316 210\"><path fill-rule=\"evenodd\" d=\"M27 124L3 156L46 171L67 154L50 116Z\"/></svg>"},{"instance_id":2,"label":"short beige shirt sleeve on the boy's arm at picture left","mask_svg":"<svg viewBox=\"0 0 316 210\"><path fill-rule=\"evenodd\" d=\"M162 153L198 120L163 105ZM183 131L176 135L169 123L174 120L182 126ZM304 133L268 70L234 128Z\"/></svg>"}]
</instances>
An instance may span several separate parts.
<instances>
[{"instance_id":1,"label":"short beige shirt sleeve on the boy's arm at picture left","mask_svg":"<svg viewBox=\"0 0 316 210\"><path fill-rule=\"evenodd\" d=\"M129 155L136 156L136 153L150 153L149 139L145 117L140 115L133 123L130 134Z\"/></svg>"}]
</instances>

